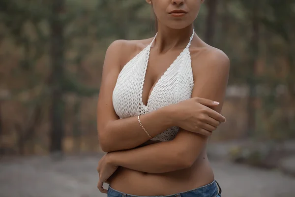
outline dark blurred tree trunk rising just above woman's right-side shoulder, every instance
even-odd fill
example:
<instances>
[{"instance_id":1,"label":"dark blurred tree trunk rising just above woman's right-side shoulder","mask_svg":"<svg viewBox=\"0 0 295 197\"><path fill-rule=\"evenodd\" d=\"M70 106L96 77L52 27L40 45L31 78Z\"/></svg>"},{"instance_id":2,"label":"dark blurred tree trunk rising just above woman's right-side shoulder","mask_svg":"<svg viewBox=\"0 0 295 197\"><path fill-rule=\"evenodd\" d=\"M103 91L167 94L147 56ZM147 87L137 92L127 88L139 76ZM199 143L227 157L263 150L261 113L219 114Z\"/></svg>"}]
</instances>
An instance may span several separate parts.
<instances>
[{"instance_id":1,"label":"dark blurred tree trunk rising just above woman's right-side shoulder","mask_svg":"<svg viewBox=\"0 0 295 197\"><path fill-rule=\"evenodd\" d=\"M207 44L213 44L213 37L215 33L216 17L217 17L217 3L218 0L208 0L207 5L207 19L206 19L206 33L205 41Z\"/></svg>"}]
</instances>

